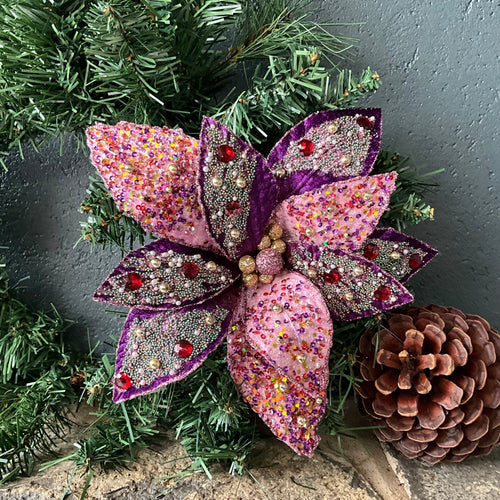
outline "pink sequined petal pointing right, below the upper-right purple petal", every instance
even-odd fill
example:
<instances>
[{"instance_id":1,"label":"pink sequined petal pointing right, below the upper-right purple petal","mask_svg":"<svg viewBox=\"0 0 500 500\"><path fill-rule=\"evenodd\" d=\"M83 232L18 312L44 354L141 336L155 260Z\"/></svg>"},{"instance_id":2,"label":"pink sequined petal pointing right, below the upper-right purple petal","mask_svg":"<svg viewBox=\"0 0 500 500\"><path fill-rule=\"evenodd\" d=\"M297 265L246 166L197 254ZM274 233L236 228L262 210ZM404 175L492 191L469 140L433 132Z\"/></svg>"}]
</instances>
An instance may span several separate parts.
<instances>
[{"instance_id":1,"label":"pink sequined petal pointing right, below the upper-right purple petal","mask_svg":"<svg viewBox=\"0 0 500 500\"><path fill-rule=\"evenodd\" d=\"M354 177L292 196L275 215L287 243L347 252L361 247L389 205L397 174Z\"/></svg>"}]
</instances>

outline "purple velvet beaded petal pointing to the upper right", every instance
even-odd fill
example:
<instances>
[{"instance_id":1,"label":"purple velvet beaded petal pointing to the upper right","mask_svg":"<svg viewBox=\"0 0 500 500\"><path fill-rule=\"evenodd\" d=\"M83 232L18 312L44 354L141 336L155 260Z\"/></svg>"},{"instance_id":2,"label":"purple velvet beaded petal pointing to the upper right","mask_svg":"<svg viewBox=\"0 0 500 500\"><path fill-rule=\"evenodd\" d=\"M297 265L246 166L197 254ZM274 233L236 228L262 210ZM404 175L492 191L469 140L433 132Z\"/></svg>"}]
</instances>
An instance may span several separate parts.
<instances>
[{"instance_id":1,"label":"purple velvet beaded petal pointing to the upper right","mask_svg":"<svg viewBox=\"0 0 500 500\"><path fill-rule=\"evenodd\" d=\"M278 184L278 200L326 183L368 175L380 149L381 110L322 111L295 125L274 146L269 169ZM310 141L313 151L302 144Z\"/></svg>"}]
</instances>

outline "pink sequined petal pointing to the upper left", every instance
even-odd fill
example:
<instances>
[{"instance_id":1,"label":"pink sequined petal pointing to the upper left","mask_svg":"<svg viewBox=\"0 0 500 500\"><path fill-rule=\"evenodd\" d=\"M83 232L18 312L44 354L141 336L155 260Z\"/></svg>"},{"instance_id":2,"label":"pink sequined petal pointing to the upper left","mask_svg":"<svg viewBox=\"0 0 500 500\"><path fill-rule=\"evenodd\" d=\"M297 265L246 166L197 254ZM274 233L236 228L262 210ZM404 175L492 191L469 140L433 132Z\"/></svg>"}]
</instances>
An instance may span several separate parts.
<instances>
[{"instance_id":1,"label":"pink sequined petal pointing to the upper left","mask_svg":"<svg viewBox=\"0 0 500 500\"><path fill-rule=\"evenodd\" d=\"M145 231L218 251L199 200L199 141L181 129L119 122L87 129L90 159L117 207Z\"/></svg>"}]
</instances>

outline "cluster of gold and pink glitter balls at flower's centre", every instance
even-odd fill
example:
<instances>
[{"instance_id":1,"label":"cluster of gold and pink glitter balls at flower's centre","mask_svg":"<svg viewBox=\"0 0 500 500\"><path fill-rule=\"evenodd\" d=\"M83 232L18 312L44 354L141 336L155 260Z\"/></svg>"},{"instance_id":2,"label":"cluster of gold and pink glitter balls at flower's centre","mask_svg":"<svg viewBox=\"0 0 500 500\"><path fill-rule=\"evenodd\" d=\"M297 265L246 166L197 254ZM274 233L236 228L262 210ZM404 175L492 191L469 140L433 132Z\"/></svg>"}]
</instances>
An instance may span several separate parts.
<instances>
[{"instance_id":1,"label":"cluster of gold and pink glitter balls at flower's centre","mask_svg":"<svg viewBox=\"0 0 500 500\"><path fill-rule=\"evenodd\" d=\"M282 254L286 251L286 243L281 239L283 228L276 222L271 223L258 245L259 252L254 257L243 255L238 262L243 272L245 286L261 283L272 283L274 277L283 269Z\"/></svg>"}]
</instances>

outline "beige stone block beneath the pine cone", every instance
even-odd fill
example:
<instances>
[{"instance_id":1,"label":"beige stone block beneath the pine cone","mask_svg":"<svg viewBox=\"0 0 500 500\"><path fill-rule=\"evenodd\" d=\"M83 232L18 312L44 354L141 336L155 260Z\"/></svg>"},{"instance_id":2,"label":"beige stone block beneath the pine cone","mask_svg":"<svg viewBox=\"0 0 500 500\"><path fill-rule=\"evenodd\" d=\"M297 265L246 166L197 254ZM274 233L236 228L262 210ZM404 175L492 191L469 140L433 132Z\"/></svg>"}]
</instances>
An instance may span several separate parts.
<instances>
[{"instance_id":1,"label":"beige stone block beneath the pine cone","mask_svg":"<svg viewBox=\"0 0 500 500\"><path fill-rule=\"evenodd\" d=\"M426 465L408 460L384 444L389 464L411 500L493 500L500 498L500 447L486 457L459 464Z\"/></svg>"}]
</instances>

